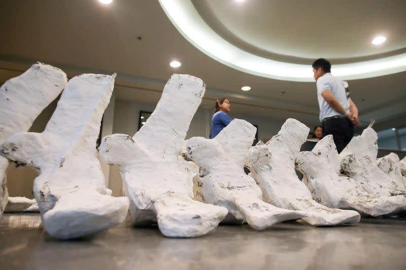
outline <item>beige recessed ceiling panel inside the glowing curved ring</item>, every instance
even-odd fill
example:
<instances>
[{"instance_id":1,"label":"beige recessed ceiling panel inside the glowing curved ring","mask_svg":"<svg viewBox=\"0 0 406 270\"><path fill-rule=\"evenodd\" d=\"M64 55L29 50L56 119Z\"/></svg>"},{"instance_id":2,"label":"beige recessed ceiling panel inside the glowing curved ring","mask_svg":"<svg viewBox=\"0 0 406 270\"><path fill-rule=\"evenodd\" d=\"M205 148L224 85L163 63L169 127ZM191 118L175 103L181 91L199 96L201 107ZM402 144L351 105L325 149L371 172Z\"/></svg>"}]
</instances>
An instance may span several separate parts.
<instances>
[{"instance_id":1,"label":"beige recessed ceiling panel inside the glowing curved ring","mask_svg":"<svg viewBox=\"0 0 406 270\"><path fill-rule=\"evenodd\" d=\"M304 58L309 63L323 56L337 63L406 51L404 0L194 0L193 4L226 40L268 57ZM384 46L371 44L377 35L387 37Z\"/></svg>"}]
</instances>

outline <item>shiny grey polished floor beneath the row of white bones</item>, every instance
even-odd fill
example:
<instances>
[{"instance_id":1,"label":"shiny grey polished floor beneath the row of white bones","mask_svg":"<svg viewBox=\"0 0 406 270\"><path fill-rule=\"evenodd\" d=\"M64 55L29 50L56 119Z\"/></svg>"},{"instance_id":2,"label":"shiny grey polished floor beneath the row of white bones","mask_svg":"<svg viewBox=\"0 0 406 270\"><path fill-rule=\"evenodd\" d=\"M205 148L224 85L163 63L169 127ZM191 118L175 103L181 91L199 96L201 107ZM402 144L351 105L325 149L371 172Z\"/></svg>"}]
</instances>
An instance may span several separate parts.
<instances>
[{"instance_id":1,"label":"shiny grey polished floor beneath the row of white bones","mask_svg":"<svg viewBox=\"0 0 406 270\"><path fill-rule=\"evenodd\" d=\"M406 220L349 226L280 223L262 232L219 226L197 239L128 223L86 239L55 241L37 213L4 214L0 269L406 269Z\"/></svg>"}]
</instances>

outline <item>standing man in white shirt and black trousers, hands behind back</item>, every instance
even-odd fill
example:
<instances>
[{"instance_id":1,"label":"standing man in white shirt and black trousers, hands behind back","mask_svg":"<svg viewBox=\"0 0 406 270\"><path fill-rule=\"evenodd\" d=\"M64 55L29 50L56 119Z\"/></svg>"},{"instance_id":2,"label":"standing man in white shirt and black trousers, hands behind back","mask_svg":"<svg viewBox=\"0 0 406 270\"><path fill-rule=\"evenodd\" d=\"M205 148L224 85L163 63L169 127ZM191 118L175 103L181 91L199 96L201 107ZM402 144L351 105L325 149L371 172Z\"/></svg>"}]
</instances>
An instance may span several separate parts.
<instances>
[{"instance_id":1,"label":"standing man in white shirt and black trousers, hands behind back","mask_svg":"<svg viewBox=\"0 0 406 270\"><path fill-rule=\"evenodd\" d=\"M358 109L346 90L347 82L331 75L329 61L317 59L312 67L317 86L323 137L333 135L335 146L340 153L354 136L354 125L359 124Z\"/></svg>"}]
</instances>

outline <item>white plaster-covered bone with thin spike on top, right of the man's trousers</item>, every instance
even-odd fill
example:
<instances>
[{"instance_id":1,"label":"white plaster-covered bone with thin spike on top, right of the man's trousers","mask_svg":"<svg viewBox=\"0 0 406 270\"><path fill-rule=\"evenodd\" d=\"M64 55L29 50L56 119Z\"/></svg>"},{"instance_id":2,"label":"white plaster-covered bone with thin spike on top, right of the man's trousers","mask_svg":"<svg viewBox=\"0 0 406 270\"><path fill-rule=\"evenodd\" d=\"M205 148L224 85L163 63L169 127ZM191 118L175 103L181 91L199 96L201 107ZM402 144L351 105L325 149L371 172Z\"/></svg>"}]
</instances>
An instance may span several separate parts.
<instances>
[{"instance_id":1,"label":"white plaster-covered bone with thin spike on top, right of the man's trousers","mask_svg":"<svg viewBox=\"0 0 406 270\"><path fill-rule=\"evenodd\" d=\"M375 130L366 128L360 136L355 136L340 153L341 171L353 178L362 188L373 195L405 195L406 191L386 175L375 163L378 155L378 135Z\"/></svg>"}]
</instances>

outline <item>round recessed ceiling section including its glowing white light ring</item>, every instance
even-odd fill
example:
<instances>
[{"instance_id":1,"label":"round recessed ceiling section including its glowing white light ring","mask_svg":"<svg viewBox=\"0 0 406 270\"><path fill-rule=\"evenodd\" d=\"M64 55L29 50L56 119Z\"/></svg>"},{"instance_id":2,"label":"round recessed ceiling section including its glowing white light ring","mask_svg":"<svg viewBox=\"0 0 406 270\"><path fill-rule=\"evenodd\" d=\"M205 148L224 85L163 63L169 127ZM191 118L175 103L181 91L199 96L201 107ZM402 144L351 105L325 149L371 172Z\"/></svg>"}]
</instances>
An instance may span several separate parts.
<instances>
[{"instance_id":1,"label":"round recessed ceiling section including its glowing white light ring","mask_svg":"<svg viewBox=\"0 0 406 270\"><path fill-rule=\"evenodd\" d=\"M406 70L406 17L397 16L406 2L304 3L160 0L196 48L254 75L312 82L309 65L319 57L332 60L333 73L345 80ZM370 41L377 34L388 41L373 46Z\"/></svg>"}]
</instances>

